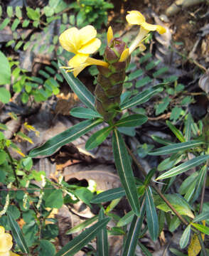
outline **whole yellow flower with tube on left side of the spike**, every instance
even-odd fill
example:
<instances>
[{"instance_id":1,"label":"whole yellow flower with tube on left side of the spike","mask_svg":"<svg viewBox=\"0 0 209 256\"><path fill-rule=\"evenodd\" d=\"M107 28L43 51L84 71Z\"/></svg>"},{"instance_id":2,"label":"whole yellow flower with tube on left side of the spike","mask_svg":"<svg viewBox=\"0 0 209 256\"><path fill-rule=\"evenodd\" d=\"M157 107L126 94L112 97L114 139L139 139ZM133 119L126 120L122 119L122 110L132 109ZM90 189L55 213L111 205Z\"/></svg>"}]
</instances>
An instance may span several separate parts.
<instances>
[{"instance_id":1,"label":"whole yellow flower with tube on left side of the spike","mask_svg":"<svg viewBox=\"0 0 209 256\"><path fill-rule=\"evenodd\" d=\"M68 28L60 35L60 44L65 50L74 53L75 56L68 61L67 72L73 71L76 77L88 65L104 65L102 60L90 58L89 55L95 53L100 48L101 41L96 38L97 31L93 26L85 26L80 30L77 28ZM1 255L0 255L1 256Z\"/></svg>"}]
</instances>

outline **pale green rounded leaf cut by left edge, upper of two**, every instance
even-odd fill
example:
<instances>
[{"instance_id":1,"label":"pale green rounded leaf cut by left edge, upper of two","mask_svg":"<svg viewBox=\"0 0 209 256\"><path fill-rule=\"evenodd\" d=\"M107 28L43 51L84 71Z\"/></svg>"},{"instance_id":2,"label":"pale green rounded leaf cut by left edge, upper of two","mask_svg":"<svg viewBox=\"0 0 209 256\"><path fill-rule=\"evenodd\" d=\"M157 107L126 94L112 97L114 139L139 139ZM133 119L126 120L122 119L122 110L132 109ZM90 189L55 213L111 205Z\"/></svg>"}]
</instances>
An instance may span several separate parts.
<instances>
[{"instance_id":1,"label":"pale green rounded leaf cut by left edge, upper of two","mask_svg":"<svg viewBox=\"0 0 209 256\"><path fill-rule=\"evenodd\" d=\"M11 68L9 65L9 60L7 60L4 53L0 51L0 85L6 85L9 84L11 80ZM1 88L2 90L3 88ZM4 88L4 90L6 90ZM9 92L9 91L7 91ZM2 93L2 92L1 92ZM5 96L6 99L8 98Z\"/></svg>"}]
</instances>

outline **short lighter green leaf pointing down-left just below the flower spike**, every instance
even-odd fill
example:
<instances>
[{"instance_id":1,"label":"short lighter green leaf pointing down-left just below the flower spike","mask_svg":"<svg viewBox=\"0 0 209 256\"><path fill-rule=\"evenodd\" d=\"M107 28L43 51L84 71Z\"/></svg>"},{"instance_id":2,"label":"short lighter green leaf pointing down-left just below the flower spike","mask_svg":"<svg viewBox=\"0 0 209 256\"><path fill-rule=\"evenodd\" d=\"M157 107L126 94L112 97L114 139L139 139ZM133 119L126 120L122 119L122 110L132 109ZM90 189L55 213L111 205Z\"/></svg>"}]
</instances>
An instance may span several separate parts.
<instances>
[{"instance_id":1,"label":"short lighter green leaf pointing down-left just below the flower spike","mask_svg":"<svg viewBox=\"0 0 209 256\"><path fill-rule=\"evenodd\" d=\"M99 146L102 142L104 142L112 129L113 127L104 127L100 129L100 131L92 134L92 136L87 140L85 144L85 149L91 150L94 149L96 146Z\"/></svg>"}]
</instances>

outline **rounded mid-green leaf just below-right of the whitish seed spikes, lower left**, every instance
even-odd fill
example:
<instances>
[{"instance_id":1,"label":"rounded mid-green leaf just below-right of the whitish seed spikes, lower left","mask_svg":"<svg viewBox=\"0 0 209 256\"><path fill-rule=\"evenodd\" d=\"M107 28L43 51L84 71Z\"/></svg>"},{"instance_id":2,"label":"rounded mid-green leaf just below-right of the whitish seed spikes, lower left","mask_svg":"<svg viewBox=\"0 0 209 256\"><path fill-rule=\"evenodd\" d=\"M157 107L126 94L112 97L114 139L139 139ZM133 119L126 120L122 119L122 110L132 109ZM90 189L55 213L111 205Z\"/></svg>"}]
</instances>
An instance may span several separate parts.
<instances>
[{"instance_id":1,"label":"rounded mid-green leaf just below-right of the whitish seed spikes, lower left","mask_svg":"<svg viewBox=\"0 0 209 256\"><path fill-rule=\"evenodd\" d=\"M63 206L63 191L55 189L45 198L45 207L61 208Z\"/></svg>"}]
</instances>

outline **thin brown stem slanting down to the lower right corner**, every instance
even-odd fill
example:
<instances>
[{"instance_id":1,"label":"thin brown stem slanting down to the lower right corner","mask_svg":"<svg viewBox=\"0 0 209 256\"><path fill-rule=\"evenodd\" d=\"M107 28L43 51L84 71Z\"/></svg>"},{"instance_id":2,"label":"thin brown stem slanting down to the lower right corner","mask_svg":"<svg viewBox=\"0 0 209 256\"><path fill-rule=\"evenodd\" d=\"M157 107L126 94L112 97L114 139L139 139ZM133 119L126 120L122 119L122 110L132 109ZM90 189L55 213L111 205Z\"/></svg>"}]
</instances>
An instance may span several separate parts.
<instances>
[{"instance_id":1,"label":"thin brown stem slanting down to the lower right corner","mask_svg":"<svg viewBox=\"0 0 209 256\"><path fill-rule=\"evenodd\" d=\"M126 144L127 146L127 144ZM141 164L139 163L139 161L136 159L136 157L134 156L134 154L132 153L131 149L129 149L129 147L127 146L127 150L129 151L130 156L132 156L132 159L134 160L136 166L138 166L139 170L142 172L142 174L144 174L144 176L146 176L146 171L144 170L144 167L141 166ZM208 163L208 161L207 161ZM151 186L154 188L154 190L159 194L159 196L164 200L164 202L167 204L167 206L173 210L173 213L176 214L176 216L179 218L179 220L181 220L181 222L183 222L183 224L188 225L189 223L178 213L178 211L173 208L173 206L171 205L171 203L169 203L169 201L166 199L166 197L164 196L163 193L161 193L161 191L159 190L159 188L157 188L157 186L154 184L153 181L151 181ZM203 250L203 255L207 256L207 252L205 250L205 245L203 243L203 239L201 237L200 231L199 230L194 230L193 231L198 235L198 240L200 242L200 246L201 249Z\"/></svg>"}]
</instances>

